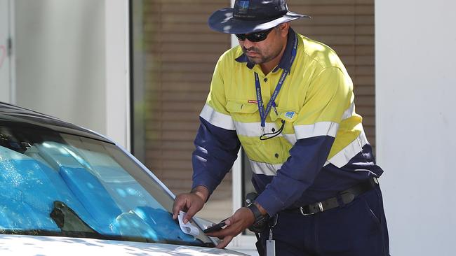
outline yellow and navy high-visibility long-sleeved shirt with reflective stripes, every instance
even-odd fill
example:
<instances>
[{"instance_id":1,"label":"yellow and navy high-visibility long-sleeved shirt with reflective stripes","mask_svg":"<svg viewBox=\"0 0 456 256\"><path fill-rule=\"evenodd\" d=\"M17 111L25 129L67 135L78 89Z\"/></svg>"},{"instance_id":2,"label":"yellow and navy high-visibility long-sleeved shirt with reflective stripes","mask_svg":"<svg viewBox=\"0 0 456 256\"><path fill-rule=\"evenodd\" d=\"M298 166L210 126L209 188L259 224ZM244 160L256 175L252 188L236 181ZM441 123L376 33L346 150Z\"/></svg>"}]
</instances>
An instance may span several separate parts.
<instances>
[{"instance_id":1,"label":"yellow and navy high-visibility long-sleeved shirt with reflective stripes","mask_svg":"<svg viewBox=\"0 0 456 256\"><path fill-rule=\"evenodd\" d=\"M297 54L290 63L295 36ZM256 201L270 215L333 197L382 174L355 112L353 84L340 58L327 45L293 29L287 40L281 61L267 75L260 65L248 62L240 46L224 52L200 114L193 155L193 186L213 192L242 145L260 192ZM283 71L289 73L263 131L255 73L266 105ZM278 136L260 140L264 133L279 131L283 121Z\"/></svg>"}]
</instances>

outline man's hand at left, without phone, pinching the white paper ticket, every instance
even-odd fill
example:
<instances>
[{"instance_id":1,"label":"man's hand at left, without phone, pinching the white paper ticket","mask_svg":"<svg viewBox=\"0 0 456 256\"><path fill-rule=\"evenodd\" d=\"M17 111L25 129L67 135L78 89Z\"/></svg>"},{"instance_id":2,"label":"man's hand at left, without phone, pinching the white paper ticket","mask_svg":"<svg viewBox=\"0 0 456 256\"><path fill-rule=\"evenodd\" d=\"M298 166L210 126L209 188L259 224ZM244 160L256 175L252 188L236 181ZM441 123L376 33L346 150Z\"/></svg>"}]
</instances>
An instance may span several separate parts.
<instances>
[{"instance_id":1,"label":"man's hand at left, without phone, pinching the white paper ticket","mask_svg":"<svg viewBox=\"0 0 456 256\"><path fill-rule=\"evenodd\" d=\"M179 211L186 211L184 216L184 223L189 222L193 216L203 208L204 203L209 197L209 190L204 186L195 187L192 192L179 194L174 199L173 205L173 219L177 219Z\"/></svg>"}]
</instances>

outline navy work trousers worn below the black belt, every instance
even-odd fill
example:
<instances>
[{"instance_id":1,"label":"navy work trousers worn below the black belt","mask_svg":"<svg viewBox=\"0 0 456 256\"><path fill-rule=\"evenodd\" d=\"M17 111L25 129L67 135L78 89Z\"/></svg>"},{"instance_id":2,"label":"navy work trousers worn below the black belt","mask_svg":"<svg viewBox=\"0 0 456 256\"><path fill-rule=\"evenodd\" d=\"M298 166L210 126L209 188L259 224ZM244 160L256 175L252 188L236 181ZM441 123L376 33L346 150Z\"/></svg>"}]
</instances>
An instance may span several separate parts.
<instances>
[{"instance_id":1,"label":"navy work trousers worn below the black belt","mask_svg":"<svg viewBox=\"0 0 456 256\"><path fill-rule=\"evenodd\" d=\"M272 234L277 256L389 255L387 222L379 186L349 204L323 213L304 216L282 211ZM263 246L268 237L269 229L261 234Z\"/></svg>"}]
</instances>

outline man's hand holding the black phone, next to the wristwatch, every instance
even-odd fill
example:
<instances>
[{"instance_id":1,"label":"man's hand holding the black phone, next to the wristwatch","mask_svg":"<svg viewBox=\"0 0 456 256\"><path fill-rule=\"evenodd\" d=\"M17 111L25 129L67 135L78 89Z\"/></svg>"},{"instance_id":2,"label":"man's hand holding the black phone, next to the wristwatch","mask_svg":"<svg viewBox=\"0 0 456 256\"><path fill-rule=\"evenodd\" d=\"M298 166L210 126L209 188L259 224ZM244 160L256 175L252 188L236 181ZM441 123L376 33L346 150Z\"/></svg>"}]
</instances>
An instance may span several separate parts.
<instances>
[{"instance_id":1,"label":"man's hand holding the black phone, next to the wristwatch","mask_svg":"<svg viewBox=\"0 0 456 256\"><path fill-rule=\"evenodd\" d=\"M215 248L225 248L234 236L241 234L244 229L250 227L255 222L255 216L249 208L239 208L231 217L225 220L227 227L217 232L208 233L208 236L215 236L222 239Z\"/></svg>"}]
</instances>

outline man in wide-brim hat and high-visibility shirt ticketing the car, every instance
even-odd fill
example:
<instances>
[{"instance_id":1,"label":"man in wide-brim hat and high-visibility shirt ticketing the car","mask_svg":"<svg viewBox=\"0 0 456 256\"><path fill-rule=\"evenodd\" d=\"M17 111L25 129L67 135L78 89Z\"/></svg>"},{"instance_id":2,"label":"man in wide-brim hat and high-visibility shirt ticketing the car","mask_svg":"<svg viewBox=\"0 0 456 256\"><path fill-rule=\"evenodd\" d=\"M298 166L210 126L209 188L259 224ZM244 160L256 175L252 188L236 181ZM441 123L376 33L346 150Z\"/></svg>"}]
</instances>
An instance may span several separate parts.
<instances>
[{"instance_id":1,"label":"man in wide-brim hat and high-visibility shirt ticketing the car","mask_svg":"<svg viewBox=\"0 0 456 256\"><path fill-rule=\"evenodd\" d=\"M276 255L389 255L375 164L351 78L328 46L290 28L309 17L284 0L235 1L210 28L236 34L220 57L201 111L193 188L175 199L173 217L201 210L242 145L258 197L211 236L224 248L267 221L259 252ZM264 226L264 225L263 225Z\"/></svg>"}]
</instances>

